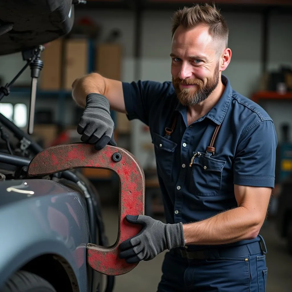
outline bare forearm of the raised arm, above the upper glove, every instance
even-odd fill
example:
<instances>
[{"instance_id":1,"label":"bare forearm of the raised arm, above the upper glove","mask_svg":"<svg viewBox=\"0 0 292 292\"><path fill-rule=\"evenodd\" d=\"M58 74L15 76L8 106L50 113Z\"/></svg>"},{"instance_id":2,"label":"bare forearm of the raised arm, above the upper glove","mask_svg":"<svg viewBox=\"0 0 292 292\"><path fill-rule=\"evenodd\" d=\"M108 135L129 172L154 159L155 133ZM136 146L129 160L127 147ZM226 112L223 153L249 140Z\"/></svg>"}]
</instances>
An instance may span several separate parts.
<instances>
[{"instance_id":1,"label":"bare forearm of the raised arm, above the upper glove","mask_svg":"<svg viewBox=\"0 0 292 292\"><path fill-rule=\"evenodd\" d=\"M105 94L105 79L100 74L91 73L73 82L72 97L77 105L85 107L89 93Z\"/></svg>"}]
</instances>

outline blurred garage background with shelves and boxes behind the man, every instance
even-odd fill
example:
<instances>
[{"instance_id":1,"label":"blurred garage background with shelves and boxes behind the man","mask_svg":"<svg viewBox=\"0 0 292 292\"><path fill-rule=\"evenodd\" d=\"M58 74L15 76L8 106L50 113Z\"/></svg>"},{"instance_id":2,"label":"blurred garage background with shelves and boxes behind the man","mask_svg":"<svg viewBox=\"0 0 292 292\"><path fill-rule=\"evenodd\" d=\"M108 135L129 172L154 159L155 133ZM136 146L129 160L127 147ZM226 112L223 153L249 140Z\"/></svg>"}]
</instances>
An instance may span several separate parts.
<instances>
[{"instance_id":1,"label":"blurred garage background with shelves and boxes behind the man","mask_svg":"<svg viewBox=\"0 0 292 292\"><path fill-rule=\"evenodd\" d=\"M203 1L202 1L203 2ZM212 1L208 1L212 2ZM213 1L229 26L232 60L223 73L232 88L262 106L274 121L278 147L276 178L261 235L267 245L267 292L292 291L292 1ZM240 2L240 4L238 4ZM193 1L87 0L75 8L72 31L44 44L36 94L34 139L46 148L79 142L83 109L71 97L72 82L85 74L125 82L171 80L171 16ZM201 2L200 2L201 3ZM0 86L23 66L21 53L0 56ZM0 103L0 112L27 131L30 70ZM145 173L145 214L164 220L154 146L142 122L112 111L115 141L130 151ZM105 230L114 244L118 232L119 181L109 170L82 168L102 203ZM290 196L290 197L289 197ZM283 236L285 235L285 236ZM156 291L164 253L117 276L115 292ZM138 287L138 288L137 288Z\"/></svg>"}]
</instances>

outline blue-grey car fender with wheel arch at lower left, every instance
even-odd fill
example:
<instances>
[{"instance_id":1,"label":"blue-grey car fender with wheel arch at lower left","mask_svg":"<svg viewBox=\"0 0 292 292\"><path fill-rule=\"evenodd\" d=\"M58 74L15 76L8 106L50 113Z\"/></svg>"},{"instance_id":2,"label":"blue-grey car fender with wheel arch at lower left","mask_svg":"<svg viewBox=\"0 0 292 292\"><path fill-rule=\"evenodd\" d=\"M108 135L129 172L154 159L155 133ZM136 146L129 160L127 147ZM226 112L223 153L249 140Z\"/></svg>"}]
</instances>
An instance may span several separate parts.
<instances>
[{"instance_id":1,"label":"blue-grey car fender with wheel arch at lower left","mask_svg":"<svg viewBox=\"0 0 292 292\"><path fill-rule=\"evenodd\" d=\"M76 281L73 291L89 291L88 215L76 190L46 179L1 181L0 234L0 290L23 265L53 254Z\"/></svg>"}]
</instances>

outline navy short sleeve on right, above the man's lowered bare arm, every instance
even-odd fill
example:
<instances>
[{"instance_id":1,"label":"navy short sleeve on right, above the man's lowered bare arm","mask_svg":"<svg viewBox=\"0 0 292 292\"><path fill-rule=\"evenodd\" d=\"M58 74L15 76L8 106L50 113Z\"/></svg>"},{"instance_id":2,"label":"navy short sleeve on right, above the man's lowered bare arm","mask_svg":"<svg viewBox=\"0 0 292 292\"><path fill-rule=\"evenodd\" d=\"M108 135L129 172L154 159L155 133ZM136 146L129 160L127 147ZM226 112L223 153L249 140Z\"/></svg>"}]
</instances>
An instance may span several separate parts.
<instances>
[{"instance_id":1,"label":"navy short sleeve on right, above the man's lowered bare arm","mask_svg":"<svg viewBox=\"0 0 292 292\"><path fill-rule=\"evenodd\" d=\"M248 127L234 157L234 184L272 187L275 183L277 135L271 120Z\"/></svg>"}]
</instances>

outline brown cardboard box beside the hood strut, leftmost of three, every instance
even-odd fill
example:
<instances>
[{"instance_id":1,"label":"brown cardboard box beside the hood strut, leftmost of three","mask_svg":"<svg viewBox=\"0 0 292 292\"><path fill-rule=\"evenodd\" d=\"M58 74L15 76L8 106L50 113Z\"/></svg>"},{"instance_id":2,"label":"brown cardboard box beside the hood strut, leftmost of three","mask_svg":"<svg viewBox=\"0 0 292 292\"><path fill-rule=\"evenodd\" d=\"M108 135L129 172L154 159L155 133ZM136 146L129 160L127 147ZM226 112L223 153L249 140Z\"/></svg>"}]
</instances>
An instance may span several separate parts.
<instances>
[{"instance_id":1,"label":"brown cardboard box beside the hood strut, leftmost of three","mask_svg":"<svg viewBox=\"0 0 292 292\"><path fill-rule=\"evenodd\" d=\"M39 87L43 90L59 90L61 88L62 39L56 39L45 45L41 53L44 67L39 77Z\"/></svg>"}]
</instances>

